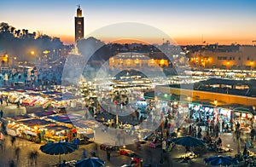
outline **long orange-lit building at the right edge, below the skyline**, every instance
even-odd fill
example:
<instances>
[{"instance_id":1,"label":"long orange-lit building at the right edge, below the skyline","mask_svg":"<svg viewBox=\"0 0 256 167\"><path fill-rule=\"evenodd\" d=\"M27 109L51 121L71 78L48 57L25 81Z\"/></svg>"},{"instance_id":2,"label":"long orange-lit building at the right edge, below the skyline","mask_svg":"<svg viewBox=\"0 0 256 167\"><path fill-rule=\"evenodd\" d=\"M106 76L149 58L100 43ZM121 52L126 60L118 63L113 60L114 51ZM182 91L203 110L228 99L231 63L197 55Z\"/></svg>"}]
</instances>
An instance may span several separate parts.
<instances>
[{"instance_id":1,"label":"long orange-lit building at the right edge, below the skyline","mask_svg":"<svg viewBox=\"0 0 256 167\"><path fill-rule=\"evenodd\" d=\"M221 69L256 69L256 47L240 46L237 51L203 50L189 57L191 67Z\"/></svg>"}]
</instances>

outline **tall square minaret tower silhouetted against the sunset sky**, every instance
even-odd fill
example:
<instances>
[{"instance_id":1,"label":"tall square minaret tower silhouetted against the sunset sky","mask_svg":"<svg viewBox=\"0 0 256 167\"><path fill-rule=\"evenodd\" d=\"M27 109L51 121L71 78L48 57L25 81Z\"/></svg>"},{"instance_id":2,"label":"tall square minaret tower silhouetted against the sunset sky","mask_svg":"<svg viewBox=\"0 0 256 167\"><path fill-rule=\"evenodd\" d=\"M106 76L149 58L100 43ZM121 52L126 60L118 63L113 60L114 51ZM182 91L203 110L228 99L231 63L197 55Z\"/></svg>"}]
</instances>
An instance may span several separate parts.
<instances>
[{"instance_id":1,"label":"tall square minaret tower silhouetted against the sunset sky","mask_svg":"<svg viewBox=\"0 0 256 167\"><path fill-rule=\"evenodd\" d=\"M77 9L77 16L75 17L75 47L80 39L84 37L84 17L82 17L82 10L80 5Z\"/></svg>"}]
</instances>

